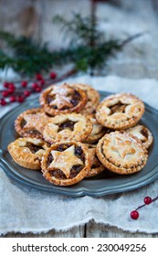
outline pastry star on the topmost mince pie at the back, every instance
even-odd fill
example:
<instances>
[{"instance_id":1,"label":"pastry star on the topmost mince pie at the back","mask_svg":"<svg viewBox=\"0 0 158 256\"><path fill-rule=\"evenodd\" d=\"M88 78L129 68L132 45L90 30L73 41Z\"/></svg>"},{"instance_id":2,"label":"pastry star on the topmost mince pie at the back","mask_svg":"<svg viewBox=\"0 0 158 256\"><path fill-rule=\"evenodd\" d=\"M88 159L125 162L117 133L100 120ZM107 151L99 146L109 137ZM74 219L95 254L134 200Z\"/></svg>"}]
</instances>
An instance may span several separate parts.
<instances>
[{"instance_id":1,"label":"pastry star on the topmost mince pie at the back","mask_svg":"<svg viewBox=\"0 0 158 256\"><path fill-rule=\"evenodd\" d=\"M49 103L50 106L57 106L58 110L62 110L62 108L68 107L72 108L73 104L70 102L70 99L68 97L57 94L56 98Z\"/></svg>"}]
</instances>

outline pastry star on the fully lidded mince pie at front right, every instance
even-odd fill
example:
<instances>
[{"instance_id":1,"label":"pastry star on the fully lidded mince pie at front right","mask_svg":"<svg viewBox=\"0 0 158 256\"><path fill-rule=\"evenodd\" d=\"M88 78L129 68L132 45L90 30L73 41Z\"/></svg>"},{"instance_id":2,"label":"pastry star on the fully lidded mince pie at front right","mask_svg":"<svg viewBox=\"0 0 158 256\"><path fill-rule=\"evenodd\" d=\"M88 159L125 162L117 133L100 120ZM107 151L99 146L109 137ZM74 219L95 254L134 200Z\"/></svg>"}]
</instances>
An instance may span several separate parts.
<instances>
[{"instance_id":1,"label":"pastry star on the fully lidded mince pie at front right","mask_svg":"<svg viewBox=\"0 0 158 256\"><path fill-rule=\"evenodd\" d=\"M135 149L132 147L132 142L130 141L121 141L120 138L115 139L115 145L111 146L111 149L116 151L121 158L124 158L126 155L134 154Z\"/></svg>"}]
</instances>

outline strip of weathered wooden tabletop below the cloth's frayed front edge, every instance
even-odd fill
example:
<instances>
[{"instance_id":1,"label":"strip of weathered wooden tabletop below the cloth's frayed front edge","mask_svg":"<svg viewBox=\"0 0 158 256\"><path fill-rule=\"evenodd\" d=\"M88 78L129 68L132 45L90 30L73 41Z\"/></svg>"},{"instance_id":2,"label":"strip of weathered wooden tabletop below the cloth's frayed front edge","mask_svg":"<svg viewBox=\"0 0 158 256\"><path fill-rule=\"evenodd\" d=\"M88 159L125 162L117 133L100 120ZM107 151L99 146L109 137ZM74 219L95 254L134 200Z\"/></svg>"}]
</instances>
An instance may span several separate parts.
<instances>
[{"instance_id":1,"label":"strip of weathered wooden tabletop below the cloth's frayed front edge","mask_svg":"<svg viewBox=\"0 0 158 256\"><path fill-rule=\"evenodd\" d=\"M42 232L40 234L11 232L0 238L158 238L158 233L132 233L90 221L90 223L84 226L79 226L64 232L56 232L54 229L47 233Z\"/></svg>"}]
</instances>

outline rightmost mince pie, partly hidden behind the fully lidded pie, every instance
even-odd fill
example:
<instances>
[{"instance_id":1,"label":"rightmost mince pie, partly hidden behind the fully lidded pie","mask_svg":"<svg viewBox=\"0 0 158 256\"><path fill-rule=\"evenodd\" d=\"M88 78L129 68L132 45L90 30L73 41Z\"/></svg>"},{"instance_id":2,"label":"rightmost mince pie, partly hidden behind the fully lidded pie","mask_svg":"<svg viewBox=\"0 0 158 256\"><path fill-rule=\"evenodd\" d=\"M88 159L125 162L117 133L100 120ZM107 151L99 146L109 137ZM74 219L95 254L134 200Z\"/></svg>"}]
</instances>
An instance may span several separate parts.
<instances>
[{"instance_id":1,"label":"rightmost mince pie, partly hidden behind the fully lidded pie","mask_svg":"<svg viewBox=\"0 0 158 256\"><path fill-rule=\"evenodd\" d=\"M137 124L132 128L125 130L126 133L131 133L142 141L145 148L148 148L153 143L153 134L144 125Z\"/></svg>"}]
</instances>

